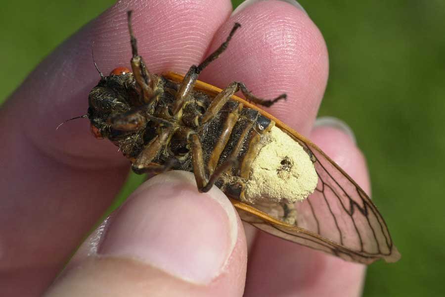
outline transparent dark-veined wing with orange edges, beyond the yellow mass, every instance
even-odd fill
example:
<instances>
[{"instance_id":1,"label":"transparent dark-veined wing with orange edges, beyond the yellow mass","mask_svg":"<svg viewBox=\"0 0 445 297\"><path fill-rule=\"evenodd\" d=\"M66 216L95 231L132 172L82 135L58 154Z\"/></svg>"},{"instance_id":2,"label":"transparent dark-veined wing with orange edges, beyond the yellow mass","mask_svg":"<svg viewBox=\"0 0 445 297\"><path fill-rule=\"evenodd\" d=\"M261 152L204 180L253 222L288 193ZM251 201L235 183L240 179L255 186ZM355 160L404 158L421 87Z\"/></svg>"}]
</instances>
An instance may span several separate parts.
<instances>
[{"instance_id":1,"label":"transparent dark-veined wing with orange edges, beyond the yellow mass","mask_svg":"<svg viewBox=\"0 0 445 297\"><path fill-rule=\"evenodd\" d=\"M242 220L301 245L334 254L348 261L370 264L384 258L400 259L383 217L363 190L312 142L282 123L283 131L312 154L318 184L314 193L297 202L295 225L273 218L251 205L232 201ZM273 211L276 217L276 211Z\"/></svg>"}]
</instances>

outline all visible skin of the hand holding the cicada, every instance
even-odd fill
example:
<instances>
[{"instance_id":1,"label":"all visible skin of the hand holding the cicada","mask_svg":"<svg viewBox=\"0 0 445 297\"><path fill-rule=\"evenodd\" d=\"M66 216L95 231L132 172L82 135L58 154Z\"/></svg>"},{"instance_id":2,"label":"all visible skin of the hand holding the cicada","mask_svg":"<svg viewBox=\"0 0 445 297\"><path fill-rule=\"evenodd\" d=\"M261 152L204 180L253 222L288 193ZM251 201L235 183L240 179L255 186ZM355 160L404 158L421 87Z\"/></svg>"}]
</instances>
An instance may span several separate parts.
<instances>
[{"instance_id":1,"label":"all visible skin of the hand holding the cicada","mask_svg":"<svg viewBox=\"0 0 445 297\"><path fill-rule=\"evenodd\" d=\"M162 4L161 4L162 3ZM243 225L221 191L199 194L192 174L143 184L81 246L128 174L116 147L87 120L100 70L129 66L126 11L153 73L185 73L242 27L199 79L244 82L280 101L267 111L322 148L369 193L362 154L344 131L312 129L328 76L321 33L285 1L123 0L50 54L0 110L0 288L6 296L357 296L364 266ZM105 231L103 231L105 230ZM248 261L247 261L248 257ZM51 288L48 290L48 287Z\"/></svg>"}]
</instances>

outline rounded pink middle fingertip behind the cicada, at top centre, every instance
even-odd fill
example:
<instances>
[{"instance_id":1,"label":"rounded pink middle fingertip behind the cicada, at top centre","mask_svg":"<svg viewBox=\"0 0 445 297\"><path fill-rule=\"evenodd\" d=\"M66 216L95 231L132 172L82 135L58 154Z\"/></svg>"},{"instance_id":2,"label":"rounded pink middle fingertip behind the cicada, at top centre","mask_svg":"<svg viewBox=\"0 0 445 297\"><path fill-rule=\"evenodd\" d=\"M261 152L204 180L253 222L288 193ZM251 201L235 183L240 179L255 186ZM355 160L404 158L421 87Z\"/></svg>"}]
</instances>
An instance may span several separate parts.
<instances>
[{"instance_id":1,"label":"rounded pink middle fingertip behind the cicada, at top centre","mask_svg":"<svg viewBox=\"0 0 445 297\"><path fill-rule=\"evenodd\" d=\"M241 24L226 51L200 79L221 88L242 81L253 94L267 99L287 93L287 101L267 111L308 135L328 75L323 37L301 6L291 4L296 1L248 2L218 31L210 50L223 42L235 22ZM251 246L256 229L245 224L245 230Z\"/></svg>"}]
</instances>

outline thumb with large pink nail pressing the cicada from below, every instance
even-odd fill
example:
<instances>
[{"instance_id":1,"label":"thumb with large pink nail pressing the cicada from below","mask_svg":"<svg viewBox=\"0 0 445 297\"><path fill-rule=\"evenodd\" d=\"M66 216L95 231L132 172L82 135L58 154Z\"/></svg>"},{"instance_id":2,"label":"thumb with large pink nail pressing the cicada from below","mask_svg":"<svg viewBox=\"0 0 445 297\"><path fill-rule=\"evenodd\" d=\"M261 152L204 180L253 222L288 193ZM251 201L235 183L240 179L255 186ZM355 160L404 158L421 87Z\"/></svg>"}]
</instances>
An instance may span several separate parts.
<instances>
[{"instance_id":1,"label":"thumb with large pink nail pressing the cicada from below","mask_svg":"<svg viewBox=\"0 0 445 297\"><path fill-rule=\"evenodd\" d=\"M242 296L242 225L193 174L150 179L84 243L47 296Z\"/></svg>"}]
</instances>

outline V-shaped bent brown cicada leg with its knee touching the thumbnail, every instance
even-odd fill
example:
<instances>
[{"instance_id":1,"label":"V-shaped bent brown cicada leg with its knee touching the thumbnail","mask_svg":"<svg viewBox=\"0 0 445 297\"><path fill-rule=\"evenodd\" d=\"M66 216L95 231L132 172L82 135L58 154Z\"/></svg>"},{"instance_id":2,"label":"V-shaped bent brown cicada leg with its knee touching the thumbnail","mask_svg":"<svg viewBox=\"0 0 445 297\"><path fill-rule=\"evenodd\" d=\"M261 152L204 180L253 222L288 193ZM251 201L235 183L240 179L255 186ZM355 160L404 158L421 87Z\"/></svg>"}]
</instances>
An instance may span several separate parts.
<instances>
[{"instance_id":1,"label":"V-shaped bent brown cicada leg with its knee touching the thumbnail","mask_svg":"<svg viewBox=\"0 0 445 297\"><path fill-rule=\"evenodd\" d=\"M235 166L236 159L228 159L223 164L218 166L215 171L210 175L207 181L204 158L202 153L202 145L197 134L191 135L192 143L192 158L193 158L193 173L195 175L196 184L199 192L208 192L223 172L229 167Z\"/></svg>"}]
</instances>

